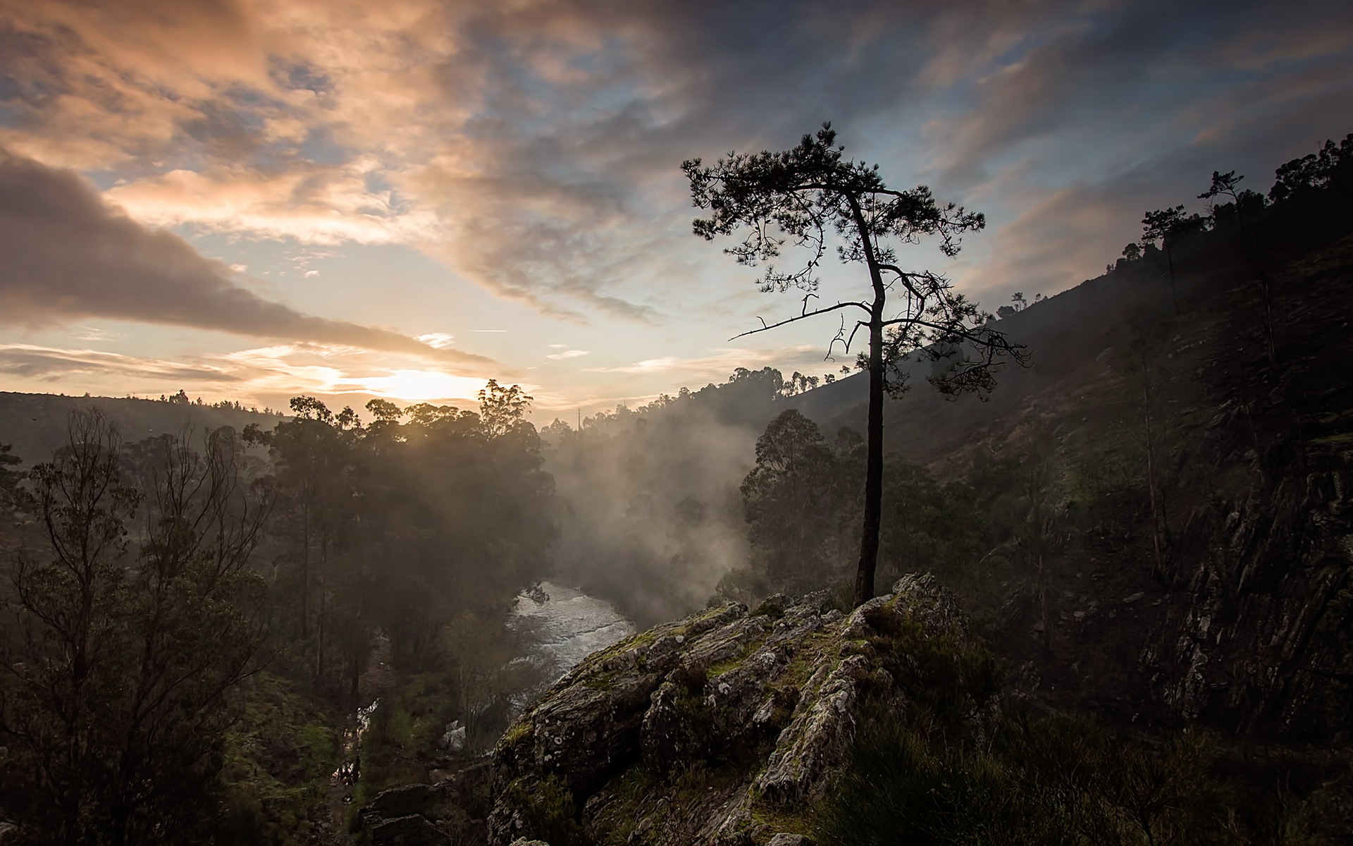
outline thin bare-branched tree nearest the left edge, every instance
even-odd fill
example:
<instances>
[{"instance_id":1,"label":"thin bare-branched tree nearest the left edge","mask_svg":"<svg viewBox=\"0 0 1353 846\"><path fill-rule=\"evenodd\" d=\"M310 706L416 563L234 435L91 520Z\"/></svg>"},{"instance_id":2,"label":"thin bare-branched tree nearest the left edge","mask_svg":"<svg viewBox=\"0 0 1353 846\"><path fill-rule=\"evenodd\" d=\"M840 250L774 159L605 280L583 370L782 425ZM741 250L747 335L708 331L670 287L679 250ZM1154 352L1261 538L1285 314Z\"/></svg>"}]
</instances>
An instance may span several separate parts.
<instances>
[{"instance_id":1,"label":"thin bare-branched tree nearest the left edge","mask_svg":"<svg viewBox=\"0 0 1353 846\"><path fill-rule=\"evenodd\" d=\"M66 448L32 468L32 490L20 502L42 520L51 558L20 558L11 577L19 631L3 656L9 685L0 728L27 753L41 796L35 809L45 811L38 824L60 843L83 838L103 754L91 732L100 703L122 682L126 521L139 497L122 485L118 447L101 414L72 417Z\"/></svg>"}]
</instances>

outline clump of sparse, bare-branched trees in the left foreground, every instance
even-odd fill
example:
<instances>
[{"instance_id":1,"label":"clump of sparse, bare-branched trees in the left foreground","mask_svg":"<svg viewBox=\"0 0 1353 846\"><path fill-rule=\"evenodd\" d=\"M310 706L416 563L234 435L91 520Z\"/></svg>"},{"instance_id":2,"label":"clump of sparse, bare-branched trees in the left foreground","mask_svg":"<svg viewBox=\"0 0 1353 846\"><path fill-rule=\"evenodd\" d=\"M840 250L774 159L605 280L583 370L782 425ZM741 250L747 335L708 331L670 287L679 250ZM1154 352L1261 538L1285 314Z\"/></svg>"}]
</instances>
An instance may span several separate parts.
<instances>
[{"instance_id":1,"label":"clump of sparse, bare-branched trees in the left foreground","mask_svg":"<svg viewBox=\"0 0 1353 846\"><path fill-rule=\"evenodd\" d=\"M262 582L246 563L267 499L242 483L233 432L210 433L203 455L154 440L142 497L115 426L76 413L68 445L20 493L50 554L22 555L11 574L0 738L23 788L0 799L28 805L19 834L35 842L198 837L231 721L225 696L262 638Z\"/></svg>"}]
</instances>

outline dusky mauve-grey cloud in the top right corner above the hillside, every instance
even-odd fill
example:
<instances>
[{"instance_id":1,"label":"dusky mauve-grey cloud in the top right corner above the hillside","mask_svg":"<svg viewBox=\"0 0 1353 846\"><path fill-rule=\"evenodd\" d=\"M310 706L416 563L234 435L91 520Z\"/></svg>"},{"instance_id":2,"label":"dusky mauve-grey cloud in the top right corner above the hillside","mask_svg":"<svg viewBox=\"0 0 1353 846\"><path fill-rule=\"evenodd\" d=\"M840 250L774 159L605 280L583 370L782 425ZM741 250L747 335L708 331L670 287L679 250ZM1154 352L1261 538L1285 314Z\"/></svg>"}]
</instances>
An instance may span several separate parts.
<instances>
[{"instance_id":1,"label":"dusky mauve-grey cloud in the top right corner above the hillside","mask_svg":"<svg viewBox=\"0 0 1353 846\"><path fill-rule=\"evenodd\" d=\"M969 93L928 123L943 181L981 183L993 161L1039 139L1081 160L1139 162L1139 146L1187 143L1187 135L1172 138L1177 123L1250 85L1260 66L1287 76L1295 62L1316 62L1346 77L1353 55L1348 15L1321 0L1281 9L1158 0L1065 11L974 73ZM1283 99L1291 106L1308 93L1287 85Z\"/></svg>"}]
</instances>

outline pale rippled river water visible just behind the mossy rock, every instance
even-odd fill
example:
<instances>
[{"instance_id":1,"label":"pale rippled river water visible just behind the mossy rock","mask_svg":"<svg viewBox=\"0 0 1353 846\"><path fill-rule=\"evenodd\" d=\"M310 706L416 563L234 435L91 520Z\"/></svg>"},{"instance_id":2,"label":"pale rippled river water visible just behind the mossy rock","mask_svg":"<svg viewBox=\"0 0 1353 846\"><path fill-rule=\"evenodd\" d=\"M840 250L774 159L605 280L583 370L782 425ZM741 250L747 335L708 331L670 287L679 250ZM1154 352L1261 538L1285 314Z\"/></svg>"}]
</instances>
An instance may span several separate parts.
<instances>
[{"instance_id":1,"label":"pale rippled river water visible just behind the mossy rock","mask_svg":"<svg viewBox=\"0 0 1353 846\"><path fill-rule=\"evenodd\" d=\"M549 598L537 602L522 594L513 615L538 629L536 648L553 665L551 684L587 655L635 633L635 624L606 600L553 582L540 586Z\"/></svg>"}]
</instances>

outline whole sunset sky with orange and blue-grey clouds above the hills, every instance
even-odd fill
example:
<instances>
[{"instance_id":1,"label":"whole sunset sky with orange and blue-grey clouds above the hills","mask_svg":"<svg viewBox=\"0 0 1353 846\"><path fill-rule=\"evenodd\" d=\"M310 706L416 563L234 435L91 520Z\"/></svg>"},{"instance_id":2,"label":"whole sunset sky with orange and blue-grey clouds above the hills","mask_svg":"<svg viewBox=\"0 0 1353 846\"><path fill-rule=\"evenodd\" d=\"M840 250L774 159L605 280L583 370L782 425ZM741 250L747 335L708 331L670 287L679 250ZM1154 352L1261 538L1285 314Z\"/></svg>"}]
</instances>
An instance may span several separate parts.
<instances>
[{"instance_id":1,"label":"whole sunset sky with orange and blue-grey clouds above the hills","mask_svg":"<svg viewBox=\"0 0 1353 846\"><path fill-rule=\"evenodd\" d=\"M736 367L821 375L831 318L691 234L686 158L846 156L986 214L994 310L1097 276L1214 169L1353 131L1346 0L0 0L0 390L548 422ZM859 291L832 268L824 299Z\"/></svg>"}]
</instances>

